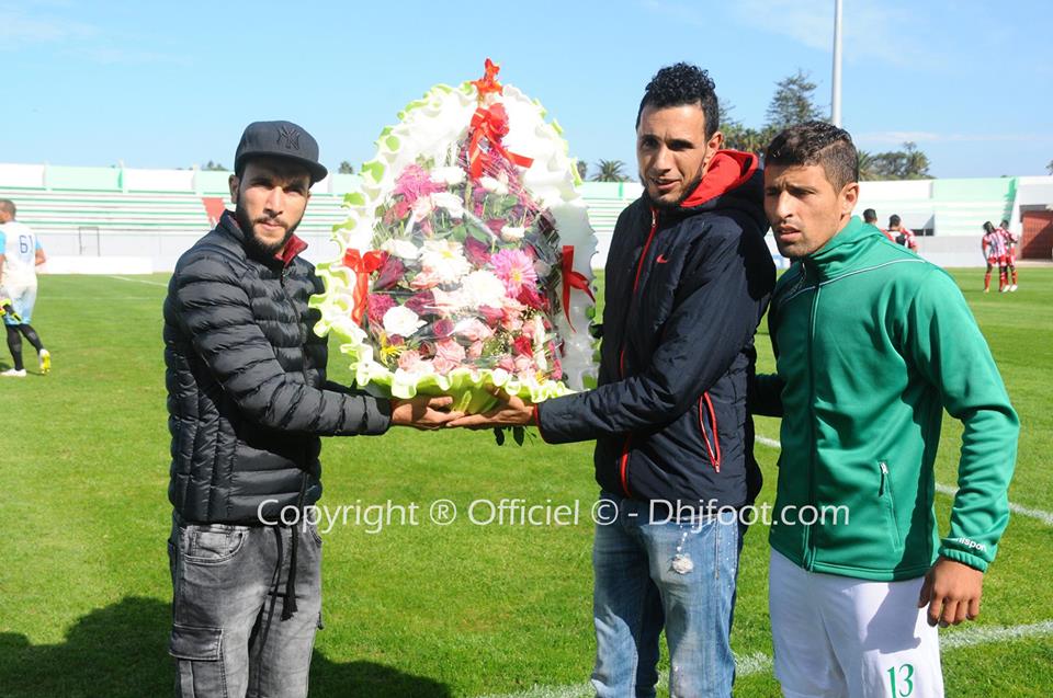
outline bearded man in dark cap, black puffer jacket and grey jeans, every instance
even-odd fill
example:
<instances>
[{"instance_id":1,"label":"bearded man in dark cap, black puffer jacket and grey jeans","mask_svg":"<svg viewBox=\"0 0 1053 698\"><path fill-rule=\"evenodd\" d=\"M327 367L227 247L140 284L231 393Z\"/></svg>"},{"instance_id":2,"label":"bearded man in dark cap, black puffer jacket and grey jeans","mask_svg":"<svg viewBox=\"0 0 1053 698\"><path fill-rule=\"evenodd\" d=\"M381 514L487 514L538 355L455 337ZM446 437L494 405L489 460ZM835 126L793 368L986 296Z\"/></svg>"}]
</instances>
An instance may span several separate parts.
<instances>
[{"instance_id":1,"label":"bearded man in dark cap, black puffer jacket and grey jeans","mask_svg":"<svg viewBox=\"0 0 1053 698\"><path fill-rule=\"evenodd\" d=\"M294 233L325 179L290 122L246 128L234 215L176 265L165 301L172 435L168 542L177 696L306 696L321 625L319 436L435 428L449 398L378 400L326 380Z\"/></svg>"}]
</instances>

